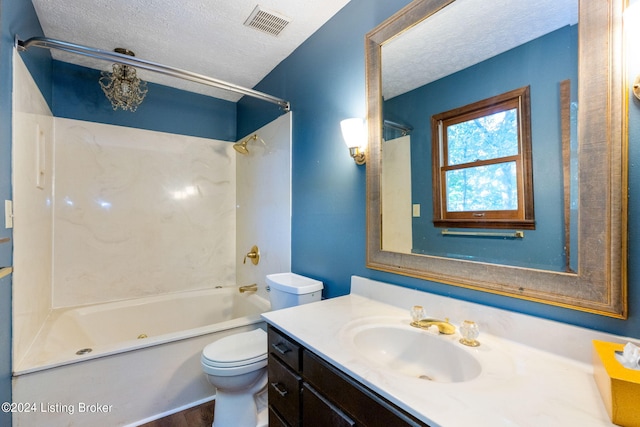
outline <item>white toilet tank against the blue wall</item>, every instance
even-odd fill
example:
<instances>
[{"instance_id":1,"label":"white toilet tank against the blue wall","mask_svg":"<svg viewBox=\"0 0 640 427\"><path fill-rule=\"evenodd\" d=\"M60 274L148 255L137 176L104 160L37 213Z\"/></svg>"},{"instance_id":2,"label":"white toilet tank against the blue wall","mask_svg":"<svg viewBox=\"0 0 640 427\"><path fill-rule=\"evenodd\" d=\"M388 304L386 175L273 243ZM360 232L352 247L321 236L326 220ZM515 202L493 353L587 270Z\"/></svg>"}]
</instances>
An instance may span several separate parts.
<instances>
[{"instance_id":1,"label":"white toilet tank against the blue wall","mask_svg":"<svg viewBox=\"0 0 640 427\"><path fill-rule=\"evenodd\" d=\"M272 310L320 301L322 297L321 281L295 273L268 274L267 286Z\"/></svg>"}]
</instances>

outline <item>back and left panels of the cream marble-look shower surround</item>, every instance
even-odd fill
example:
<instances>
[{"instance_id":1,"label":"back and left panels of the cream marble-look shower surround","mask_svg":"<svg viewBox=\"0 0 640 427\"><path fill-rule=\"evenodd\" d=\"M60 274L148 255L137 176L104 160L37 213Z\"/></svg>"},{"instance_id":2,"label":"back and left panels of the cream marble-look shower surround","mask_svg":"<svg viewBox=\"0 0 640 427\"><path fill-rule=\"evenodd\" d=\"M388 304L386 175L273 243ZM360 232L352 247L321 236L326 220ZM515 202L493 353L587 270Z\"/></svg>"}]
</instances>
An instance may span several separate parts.
<instances>
[{"instance_id":1,"label":"back and left panels of the cream marble-look shower surround","mask_svg":"<svg viewBox=\"0 0 640 427\"><path fill-rule=\"evenodd\" d=\"M235 284L232 144L52 117L15 58L13 360L51 308Z\"/></svg>"}]
</instances>

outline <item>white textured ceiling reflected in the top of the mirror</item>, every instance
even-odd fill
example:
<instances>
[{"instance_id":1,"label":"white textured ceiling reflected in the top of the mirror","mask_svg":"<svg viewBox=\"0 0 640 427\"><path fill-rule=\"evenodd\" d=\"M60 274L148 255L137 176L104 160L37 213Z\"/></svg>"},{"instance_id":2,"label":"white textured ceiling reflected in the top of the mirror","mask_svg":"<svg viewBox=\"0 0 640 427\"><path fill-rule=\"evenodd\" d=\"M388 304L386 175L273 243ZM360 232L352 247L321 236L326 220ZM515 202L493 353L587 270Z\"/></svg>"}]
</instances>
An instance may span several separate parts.
<instances>
[{"instance_id":1,"label":"white textured ceiling reflected in the top of the mirror","mask_svg":"<svg viewBox=\"0 0 640 427\"><path fill-rule=\"evenodd\" d=\"M456 0L383 46L383 96L391 99L577 22L578 0Z\"/></svg>"}]
</instances>

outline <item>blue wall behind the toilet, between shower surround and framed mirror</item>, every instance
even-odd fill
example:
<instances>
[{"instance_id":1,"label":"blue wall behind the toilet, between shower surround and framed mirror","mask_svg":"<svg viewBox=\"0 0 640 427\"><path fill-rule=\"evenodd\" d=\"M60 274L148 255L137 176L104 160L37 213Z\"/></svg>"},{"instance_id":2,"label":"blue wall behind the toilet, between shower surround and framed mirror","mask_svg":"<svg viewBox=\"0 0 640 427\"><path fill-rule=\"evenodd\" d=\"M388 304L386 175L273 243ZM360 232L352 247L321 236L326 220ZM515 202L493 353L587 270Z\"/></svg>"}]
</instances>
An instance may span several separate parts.
<instances>
[{"instance_id":1,"label":"blue wall behind the toilet, between shower surround and framed mirror","mask_svg":"<svg viewBox=\"0 0 640 427\"><path fill-rule=\"evenodd\" d=\"M365 34L408 3L351 0L256 87L291 102L292 270L322 279L326 297L348 293L353 274L385 278L364 267L366 169L349 157L340 120L366 115ZM265 120L256 107L239 102L239 134Z\"/></svg>"}]
</instances>

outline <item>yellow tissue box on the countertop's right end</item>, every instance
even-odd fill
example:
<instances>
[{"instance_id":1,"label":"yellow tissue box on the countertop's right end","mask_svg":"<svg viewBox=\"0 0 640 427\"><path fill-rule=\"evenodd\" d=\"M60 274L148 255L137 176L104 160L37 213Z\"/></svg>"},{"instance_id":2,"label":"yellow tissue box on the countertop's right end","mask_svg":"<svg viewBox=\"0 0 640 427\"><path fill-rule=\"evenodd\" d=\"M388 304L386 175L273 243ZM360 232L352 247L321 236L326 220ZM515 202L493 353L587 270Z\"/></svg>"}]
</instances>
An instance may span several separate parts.
<instances>
[{"instance_id":1,"label":"yellow tissue box on the countertop's right end","mask_svg":"<svg viewBox=\"0 0 640 427\"><path fill-rule=\"evenodd\" d=\"M615 358L624 344L593 341L593 376L614 424L640 427L640 371L625 368Z\"/></svg>"}]
</instances>

